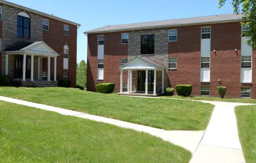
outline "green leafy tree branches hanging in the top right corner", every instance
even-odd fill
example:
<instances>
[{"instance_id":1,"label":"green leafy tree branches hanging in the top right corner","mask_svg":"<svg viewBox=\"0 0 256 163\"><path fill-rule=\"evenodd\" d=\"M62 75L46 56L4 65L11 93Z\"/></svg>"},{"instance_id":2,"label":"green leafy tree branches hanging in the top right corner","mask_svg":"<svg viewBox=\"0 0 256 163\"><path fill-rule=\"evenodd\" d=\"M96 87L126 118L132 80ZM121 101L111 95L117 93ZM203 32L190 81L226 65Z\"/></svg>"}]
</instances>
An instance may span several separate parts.
<instances>
[{"instance_id":1,"label":"green leafy tree branches hanging in the top right corner","mask_svg":"<svg viewBox=\"0 0 256 163\"><path fill-rule=\"evenodd\" d=\"M219 8L225 5L226 0L219 0ZM256 48L256 0L232 0L234 13L243 15L243 22L248 28L247 32L243 35L247 36L247 44Z\"/></svg>"}]
</instances>

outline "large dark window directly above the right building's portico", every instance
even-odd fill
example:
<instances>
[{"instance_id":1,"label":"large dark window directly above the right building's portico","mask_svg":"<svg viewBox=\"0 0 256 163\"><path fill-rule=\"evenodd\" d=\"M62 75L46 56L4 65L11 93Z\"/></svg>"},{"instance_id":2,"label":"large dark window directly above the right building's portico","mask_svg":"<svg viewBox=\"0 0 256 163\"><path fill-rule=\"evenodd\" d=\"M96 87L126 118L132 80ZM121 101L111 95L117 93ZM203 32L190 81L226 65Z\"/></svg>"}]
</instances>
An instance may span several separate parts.
<instances>
[{"instance_id":1,"label":"large dark window directly above the right building's portico","mask_svg":"<svg viewBox=\"0 0 256 163\"><path fill-rule=\"evenodd\" d=\"M141 36L141 54L154 54L155 52L155 35Z\"/></svg>"}]
</instances>

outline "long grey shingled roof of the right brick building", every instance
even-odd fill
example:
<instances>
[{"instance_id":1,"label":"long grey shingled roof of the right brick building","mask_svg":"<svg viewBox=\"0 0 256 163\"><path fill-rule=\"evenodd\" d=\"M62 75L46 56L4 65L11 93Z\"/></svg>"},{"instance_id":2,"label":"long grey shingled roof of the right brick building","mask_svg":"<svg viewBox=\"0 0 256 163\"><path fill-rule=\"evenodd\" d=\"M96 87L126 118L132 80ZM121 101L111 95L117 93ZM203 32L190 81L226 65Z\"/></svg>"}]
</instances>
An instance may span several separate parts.
<instances>
[{"instance_id":1,"label":"long grey shingled roof of the right brick building","mask_svg":"<svg viewBox=\"0 0 256 163\"><path fill-rule=\"evenodd\" d=\"M185 25L240 22L242 20L242 16L243 16L242 14L219 14L219 15L212 15L212 16L199 16L199 17L193 17L193 18L159 20L159 21L143 22L143 23L106 25L103 27L92 29L90 31L86 31L84 33L85 34L108 33L108 32L118 32L118 31L133 31L133 30L140 30L140 29L177 27L177 26L185 26Z\"/></svg>"}]
</instances>

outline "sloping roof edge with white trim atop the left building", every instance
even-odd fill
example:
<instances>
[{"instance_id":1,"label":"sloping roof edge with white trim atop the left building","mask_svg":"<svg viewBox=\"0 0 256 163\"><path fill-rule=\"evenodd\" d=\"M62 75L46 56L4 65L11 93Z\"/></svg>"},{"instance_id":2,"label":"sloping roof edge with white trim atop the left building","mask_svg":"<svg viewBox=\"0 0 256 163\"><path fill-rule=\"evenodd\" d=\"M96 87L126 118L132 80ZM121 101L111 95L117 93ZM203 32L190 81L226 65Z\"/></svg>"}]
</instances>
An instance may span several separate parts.
<instances>
[{"instance_id":1,"label":"sloping roof edge with white trim atop the left building","mask_svg":"<svg viewBox=\"0 0 256 163\"><path fill-rule=\"evenodd\" d=\"M43 12L40 12L40 11L37 11L37 10L34 10L34 9L30 9L28 7L24 7L22 5L18 5L18 4L14 4L14 3L11 3L11 2L8 2L6 0L0 0L0 3L1 4L5 4L5 5L9 5L9 6L12 6L12 7L17 7L19 9L22 9L22 10L25 10L25 11L30 11L31 13L36 13L36 14L39 14L39 15L42 15L42 16L46 16L48 18L52 18L52 19L55 19L55 20L59 20L61 22L66 22L68 24L72 24L72 25L76 25L76 26L81 26L80 24L78 23L75 23L75 22L71 22L69 20L66 20L66 19L63 19L63 18L59 18L57 16L53 16L51 14L46 14L46 13L43 13Z\"/></svg>"}]
</instances>

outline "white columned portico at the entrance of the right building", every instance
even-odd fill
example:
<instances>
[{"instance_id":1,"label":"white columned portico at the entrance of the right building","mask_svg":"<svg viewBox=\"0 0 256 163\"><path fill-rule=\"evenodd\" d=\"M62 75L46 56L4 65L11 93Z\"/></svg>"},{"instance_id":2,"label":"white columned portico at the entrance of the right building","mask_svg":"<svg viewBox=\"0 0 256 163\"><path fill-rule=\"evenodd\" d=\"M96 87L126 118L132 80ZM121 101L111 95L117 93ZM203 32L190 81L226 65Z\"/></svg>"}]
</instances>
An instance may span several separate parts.
<instances>
[{"instance_id":1,"label":"white columned portico at the entrance of the right building","mask_svg":"<svg viewBox=\"0 0 256 163\"><path fill-rule=\"evenodd\" d=\"M129 62L119 67L121 70L120 76L120 93L122 95L145 95L145 96L157 96L158 94L164 93L164 74L165 67L153 62L150 59L136 56ZM127 92L123 91L123 71L127 71ZM137 78L133 77L135 74ZM160 92L157 92L157 76L161 73ZM134 86L133 82L137 82ZM159 84L158 84L159 85Z\"/></svg>"}]
</instances>

